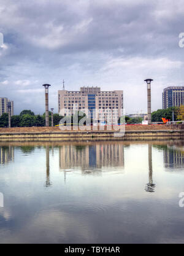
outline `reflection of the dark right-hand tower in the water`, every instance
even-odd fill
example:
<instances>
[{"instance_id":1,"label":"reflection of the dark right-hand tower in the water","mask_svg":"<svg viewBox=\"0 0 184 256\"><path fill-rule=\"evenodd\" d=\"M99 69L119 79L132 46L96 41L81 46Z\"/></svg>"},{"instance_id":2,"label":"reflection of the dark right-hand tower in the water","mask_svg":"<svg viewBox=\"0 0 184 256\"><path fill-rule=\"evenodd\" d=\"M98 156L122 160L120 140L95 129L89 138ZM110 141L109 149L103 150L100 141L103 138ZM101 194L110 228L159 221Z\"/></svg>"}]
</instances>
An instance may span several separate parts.
<instances>
[{"instance_id":1,"label":"reflection of the dark right-hand tower in the water","mask_svg":"<svg viewBox=\"0 0 184 256\"><path fill-rule=\"evenodd\" d=\"M164 166L166 168L184 168L184 147L167 145L164 149ZM183 169L184 170L184 169Z\"/></svg>"}]
</instances>

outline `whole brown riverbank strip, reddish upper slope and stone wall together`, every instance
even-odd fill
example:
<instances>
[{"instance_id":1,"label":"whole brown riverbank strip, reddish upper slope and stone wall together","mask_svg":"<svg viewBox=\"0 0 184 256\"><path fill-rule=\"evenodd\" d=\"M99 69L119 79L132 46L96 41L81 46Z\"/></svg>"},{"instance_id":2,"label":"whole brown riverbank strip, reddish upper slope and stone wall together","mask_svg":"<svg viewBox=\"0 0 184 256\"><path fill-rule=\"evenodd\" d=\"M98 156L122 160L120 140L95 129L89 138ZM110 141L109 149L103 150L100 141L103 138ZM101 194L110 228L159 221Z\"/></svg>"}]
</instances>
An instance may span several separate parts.
<instances>
[{"instance_id":1,"label":"whole brown riverbank strip, reddish upper slope and stone wall together","mask_svg":"<svg viewBox=\"0 0 184 256\"><path fill-rule=\"evenodd\" d=\"M182 125L130 125L125 135L103 130L61 131L58 127L0 128L0 141L126 141L184 139Z\"/></svg>"}]
</instances>

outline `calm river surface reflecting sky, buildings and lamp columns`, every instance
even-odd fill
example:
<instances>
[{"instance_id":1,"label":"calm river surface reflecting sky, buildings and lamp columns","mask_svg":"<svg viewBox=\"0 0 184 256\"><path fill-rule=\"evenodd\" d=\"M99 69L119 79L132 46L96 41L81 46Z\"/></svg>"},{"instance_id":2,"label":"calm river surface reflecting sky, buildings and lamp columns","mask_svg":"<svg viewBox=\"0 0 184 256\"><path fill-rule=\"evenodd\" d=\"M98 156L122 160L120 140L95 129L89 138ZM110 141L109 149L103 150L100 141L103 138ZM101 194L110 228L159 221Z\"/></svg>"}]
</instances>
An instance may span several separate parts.
<instances>
[{"instance_id":1,"label":"calm river surface reflecting sky, buildings and lamp columns","mask_svg":"<svg viewBox=\"0 0 184 256\"><path fill-rule=\"evenodd\" d=\"M0 144L0 242L184 242L184 142Z\"/></svg>"}]
</instances>

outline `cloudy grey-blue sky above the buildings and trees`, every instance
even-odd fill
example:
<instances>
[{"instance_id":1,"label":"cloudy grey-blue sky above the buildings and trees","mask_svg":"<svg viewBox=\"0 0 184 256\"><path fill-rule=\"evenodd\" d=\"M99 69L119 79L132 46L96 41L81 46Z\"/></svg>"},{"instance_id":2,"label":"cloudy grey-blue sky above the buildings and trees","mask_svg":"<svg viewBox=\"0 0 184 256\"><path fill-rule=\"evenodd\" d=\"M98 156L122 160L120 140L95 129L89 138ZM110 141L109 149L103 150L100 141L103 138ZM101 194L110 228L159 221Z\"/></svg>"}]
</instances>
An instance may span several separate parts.
<instances>
[{"instance_id":1,"label":"cloudy grey-blue sky above the buildings and trees","mask_svg":"<svg viewBox=\"0 0 184 256\"><path fill-rule=\"evenodd\" d=\"M124 90L127 113L162 107L161 93L184 85L184 0L0 0L0 96L15 101L15 114L58 112L57 91L98 86Z\"/></svg>"}]
</instances>

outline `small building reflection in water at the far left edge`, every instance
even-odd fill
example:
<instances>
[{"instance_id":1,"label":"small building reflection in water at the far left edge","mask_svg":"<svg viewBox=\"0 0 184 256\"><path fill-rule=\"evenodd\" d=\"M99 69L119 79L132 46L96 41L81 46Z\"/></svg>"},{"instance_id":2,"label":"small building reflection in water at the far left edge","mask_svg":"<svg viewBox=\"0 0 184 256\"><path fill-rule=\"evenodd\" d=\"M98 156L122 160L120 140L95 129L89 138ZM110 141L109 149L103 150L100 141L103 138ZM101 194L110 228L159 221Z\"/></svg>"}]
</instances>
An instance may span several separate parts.
<instances>
[{"instance_id":1,"label":"small building reflection in water at the far left edge","mask_svg":"<svg viewBox=\"0 0 184 256\"><path fill-rule=\"evenodd\" d=\"M0 163L1 165L14 161L14 148L9 146L0 147Z\"/></svg>"}]
</instances>

